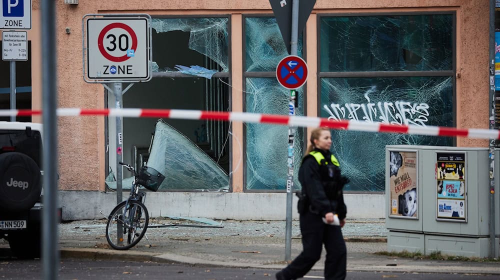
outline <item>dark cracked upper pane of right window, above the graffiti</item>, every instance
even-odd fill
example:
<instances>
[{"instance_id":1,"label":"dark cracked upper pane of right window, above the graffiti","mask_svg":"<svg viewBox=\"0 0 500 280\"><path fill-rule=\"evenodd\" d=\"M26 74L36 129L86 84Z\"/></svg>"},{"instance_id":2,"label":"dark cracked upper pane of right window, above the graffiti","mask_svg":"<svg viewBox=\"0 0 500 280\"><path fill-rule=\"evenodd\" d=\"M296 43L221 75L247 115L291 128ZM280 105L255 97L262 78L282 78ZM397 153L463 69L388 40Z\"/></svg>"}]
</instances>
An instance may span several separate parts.
<instances>
[{"instance_id":1,"label":"dark cracked upper pane of right window, above the graffiti","mask_svg":"<svg viewBox=\"0 0 500 280\"><path fill-rule=\"evenodd\" d=\"M451 70L453 15L320 18L321 71Z\"/></svg>"}]
</instances>

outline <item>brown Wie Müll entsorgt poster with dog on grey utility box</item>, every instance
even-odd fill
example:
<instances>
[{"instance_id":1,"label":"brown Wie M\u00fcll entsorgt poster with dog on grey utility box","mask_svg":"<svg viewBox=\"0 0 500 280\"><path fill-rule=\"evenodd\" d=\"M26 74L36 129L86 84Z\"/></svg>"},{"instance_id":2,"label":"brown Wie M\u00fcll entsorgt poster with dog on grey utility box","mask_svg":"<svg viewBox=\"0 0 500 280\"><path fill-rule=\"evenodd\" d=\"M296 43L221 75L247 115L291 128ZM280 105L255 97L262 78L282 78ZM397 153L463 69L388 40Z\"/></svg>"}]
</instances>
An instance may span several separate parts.
<instances>
[{"instance_id":1,"label":"brown Wie M\u00fcll entsorgt poster with dog on grey utility box","mask_svg":"<svg viewBox=\"0 0 500 280\"><path fill-rule=\"evenodd\" d=\"M417 218L416 151L389 151L390 216Z\"/></svg>"}]
</instances>

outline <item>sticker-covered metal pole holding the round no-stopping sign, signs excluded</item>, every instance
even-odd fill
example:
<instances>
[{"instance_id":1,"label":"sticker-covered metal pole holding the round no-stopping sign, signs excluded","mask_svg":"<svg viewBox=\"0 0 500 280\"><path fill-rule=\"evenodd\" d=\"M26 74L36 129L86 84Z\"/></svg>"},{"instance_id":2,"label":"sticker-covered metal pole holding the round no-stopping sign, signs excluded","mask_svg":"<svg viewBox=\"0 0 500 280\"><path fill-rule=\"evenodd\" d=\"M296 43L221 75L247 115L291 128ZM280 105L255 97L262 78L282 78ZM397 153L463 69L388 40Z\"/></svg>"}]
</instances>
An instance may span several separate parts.
<instances>
[{"instance_id":1,"label":"sticker-covered metal pole holding the round no-stopping sign, signs excluded","mask_svg":"<svg viewBox=\"0 0 500 280\"><path fill-rule=\"evenodd\" d=\"M297 55L298 40L298 2L292 1L291 7L291 55ZM289 115L295 114L295 89L290 90ZM295 128L288 127L288 177L286 179L286 228L284 260L291 260L291 208L293 202L293 144L295 142Z\"/></svg>"}]
</instances>

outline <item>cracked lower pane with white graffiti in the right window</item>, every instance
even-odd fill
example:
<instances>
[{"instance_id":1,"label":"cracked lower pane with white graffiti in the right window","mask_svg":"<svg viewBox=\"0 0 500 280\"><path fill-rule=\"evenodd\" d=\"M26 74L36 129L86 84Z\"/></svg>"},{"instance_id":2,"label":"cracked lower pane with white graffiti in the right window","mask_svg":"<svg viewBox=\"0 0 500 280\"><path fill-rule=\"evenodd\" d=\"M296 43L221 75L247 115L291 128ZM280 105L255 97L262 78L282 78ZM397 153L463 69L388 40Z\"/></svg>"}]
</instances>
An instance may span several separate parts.
<instances>
[{"instance_id":1,"label":"cracked lower pane with white graffiti in the right window","mask_svg":"<svg viewBox=\"0 0 500 280\"><path fill-rule=\"evenodd\" d=\"M320 116L453 126L452 77L321 78ZM450 137L332 130L345 190L384 191L385 145L453 145Z\"/></svg>"}]
</instances>

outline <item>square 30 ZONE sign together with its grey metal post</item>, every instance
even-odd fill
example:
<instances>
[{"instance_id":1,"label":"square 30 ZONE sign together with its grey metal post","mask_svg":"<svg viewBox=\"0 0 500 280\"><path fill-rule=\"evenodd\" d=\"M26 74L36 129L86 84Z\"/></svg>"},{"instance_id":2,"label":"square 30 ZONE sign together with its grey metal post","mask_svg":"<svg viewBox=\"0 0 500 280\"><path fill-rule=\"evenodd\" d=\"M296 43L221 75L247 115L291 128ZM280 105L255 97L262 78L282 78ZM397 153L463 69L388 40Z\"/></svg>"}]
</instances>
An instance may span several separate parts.
<instances>
[{"instance_id":1,"label":"square 30 ZONE sign together with its grey metal post","mask_svg":"<svg viewBox=\"0 0 500 280\"><path fill-rule=\"evenodd\" d=\"M151 16L148 14L83 16L83 79L102 83L109 92L113 92L117 109L123 107L122 95L133 82L151 79L150 22ZM130 84L122 90L122 82ZM116 203L122 200L123 172L119 164L122 155L123 118L119 116L116 117ZM118 239L122 239L122 229L120 226L117 229Z\"/></svg>"}]
</instances>

